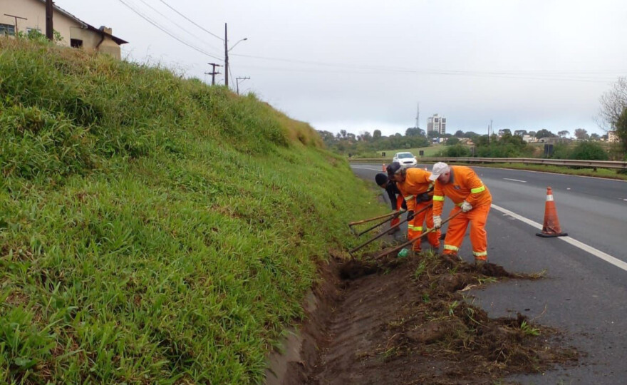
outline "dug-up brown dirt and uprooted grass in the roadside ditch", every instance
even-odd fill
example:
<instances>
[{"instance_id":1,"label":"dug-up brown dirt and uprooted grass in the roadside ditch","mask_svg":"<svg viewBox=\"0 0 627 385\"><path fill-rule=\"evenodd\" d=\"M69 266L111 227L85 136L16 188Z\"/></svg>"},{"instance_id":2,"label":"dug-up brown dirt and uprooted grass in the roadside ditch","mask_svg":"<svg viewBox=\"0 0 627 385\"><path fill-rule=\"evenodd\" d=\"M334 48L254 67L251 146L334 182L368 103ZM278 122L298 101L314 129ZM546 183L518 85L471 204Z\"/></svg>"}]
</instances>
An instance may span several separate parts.
<instances>
[{"instance_id":1,"label":"dug-up brown dirt and uprooted grass in the roadside ditch","mask_svg":"<svg viewBox=\"0 0 627 385\"><path fill-rule=\"evenodd\" d=\"M316 310L302 329L301 361L284 384L505 384L509 374L575 364L556 329L518 314L490 319L467 289L538 279L438 255L323 267Z\"/></svg>"}]
</instances>

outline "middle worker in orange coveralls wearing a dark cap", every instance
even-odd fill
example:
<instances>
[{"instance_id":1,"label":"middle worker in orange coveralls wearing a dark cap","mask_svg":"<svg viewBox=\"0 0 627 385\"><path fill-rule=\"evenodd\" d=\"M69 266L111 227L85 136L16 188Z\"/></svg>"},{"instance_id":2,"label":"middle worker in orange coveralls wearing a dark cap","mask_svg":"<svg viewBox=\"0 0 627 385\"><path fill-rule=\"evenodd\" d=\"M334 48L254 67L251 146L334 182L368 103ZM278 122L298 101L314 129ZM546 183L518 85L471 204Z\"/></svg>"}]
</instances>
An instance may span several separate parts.
<instances>
[{"instance_id":1,"label":"middle worker in orange coveralls wearing a dark cap","mask_svg":"<svg viewBox=\"0 0 627 385\"><path fill-rule=\"evenodd\" d=\"M393 162L388 165L388 178L396 182L400 193L403 194L407 202L407 217L413 221L408 222L408 240L413 240L423 234L423 222L427 222L427 227L433 227L432 207L420 212L425 207L431 205L431 195L433 183L429 180L430 174L420 168L403 168L400 163ZM415 215L415 212L420 212ZM426 230L426 229L425 229ZM440 230L430 232L427 240L431 247L437 250L440 247ZM413 252L420 252L420 242L413 243Z\"/></svg>"}]
</instances>

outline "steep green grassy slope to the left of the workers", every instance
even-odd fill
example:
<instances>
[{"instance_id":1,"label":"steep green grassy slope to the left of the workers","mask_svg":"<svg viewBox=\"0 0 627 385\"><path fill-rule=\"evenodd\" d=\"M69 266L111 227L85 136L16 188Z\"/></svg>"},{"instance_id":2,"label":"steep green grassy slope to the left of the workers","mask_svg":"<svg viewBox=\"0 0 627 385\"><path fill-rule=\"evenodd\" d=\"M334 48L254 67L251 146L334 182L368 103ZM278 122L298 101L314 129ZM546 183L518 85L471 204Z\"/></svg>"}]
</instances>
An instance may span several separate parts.
<instances>
[{"instance_id":1,"label":"steep green grassy slope to the left of the workers","mask_svg":"<svg viewBox=\"0 0 627 385\"><path fill-rule=\"evenodd\" d=\"M382 210L309 125L81 51L0 39L0 130L2 383L258 381Z\"/></svg>"}]
</instances>

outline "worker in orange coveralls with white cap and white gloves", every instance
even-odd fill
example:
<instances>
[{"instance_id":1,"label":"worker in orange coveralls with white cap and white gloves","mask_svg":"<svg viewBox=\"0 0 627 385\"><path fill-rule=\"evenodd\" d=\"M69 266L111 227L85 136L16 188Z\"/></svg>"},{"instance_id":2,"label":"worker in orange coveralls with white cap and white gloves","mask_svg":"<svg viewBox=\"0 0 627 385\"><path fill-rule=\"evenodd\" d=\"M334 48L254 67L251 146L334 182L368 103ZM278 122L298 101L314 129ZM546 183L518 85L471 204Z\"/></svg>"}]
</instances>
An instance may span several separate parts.
<instances>
[{"instance_id":1,"label":"worker in orange coveralls with white cap and white gloves","mask_svg":"<svg viewBox=\"0 0 627 385\"><path fill-rule=\"evenodd\" d=\"M438 162L433 165L430 180L435 180L433 189L433 223L442 226L442 207L444 197L455 203L450 212L454 215L461 211L448 224L444 240L444 254L455 255L462 246L466 228L470 223L470 243L475 265L487 262L487 233L485 222L492 204L492 195L474 170L465 166L449 166Z\"/></svg>"}]
</instances>

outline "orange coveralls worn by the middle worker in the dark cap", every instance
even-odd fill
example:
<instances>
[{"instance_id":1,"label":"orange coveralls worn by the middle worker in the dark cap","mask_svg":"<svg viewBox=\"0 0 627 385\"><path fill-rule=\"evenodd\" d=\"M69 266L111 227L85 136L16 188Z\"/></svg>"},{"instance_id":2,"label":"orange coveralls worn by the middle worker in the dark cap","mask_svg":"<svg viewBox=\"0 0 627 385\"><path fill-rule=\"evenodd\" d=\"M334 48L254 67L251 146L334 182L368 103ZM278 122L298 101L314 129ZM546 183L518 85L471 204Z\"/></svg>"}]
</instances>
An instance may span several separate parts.
<instances>
[{"instance_id":1,"label":"orange coveralls worn by the middle worker in the dark cap","mask_svg":"<svg viewBox=\"0 0 627 385\"><path fill-rule=\"evenodd\" d=\"M415 237L420 237L423 234L423 222L427 222L427 227L433 227L433 208L429 207L427 210L418 213L423 208L431 205L431 201L416 202L416 197L427 193L430 190L432 182L429 180L431 173L420 168L408 168L407 176L404 182L397 182L396 185L400 193L405 197L407 202L407 210L413 210L416 213L414 220L408 222L408 234L409 240L413 240ZM440 230L435 230L427 235L427 240L432 247L440 247ZM413 245L415 252L420 252L420 242L416 241Z\"/></svg>"}]
</instances>

